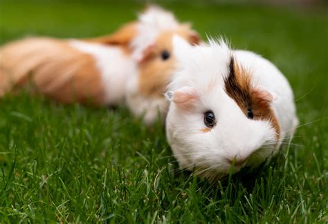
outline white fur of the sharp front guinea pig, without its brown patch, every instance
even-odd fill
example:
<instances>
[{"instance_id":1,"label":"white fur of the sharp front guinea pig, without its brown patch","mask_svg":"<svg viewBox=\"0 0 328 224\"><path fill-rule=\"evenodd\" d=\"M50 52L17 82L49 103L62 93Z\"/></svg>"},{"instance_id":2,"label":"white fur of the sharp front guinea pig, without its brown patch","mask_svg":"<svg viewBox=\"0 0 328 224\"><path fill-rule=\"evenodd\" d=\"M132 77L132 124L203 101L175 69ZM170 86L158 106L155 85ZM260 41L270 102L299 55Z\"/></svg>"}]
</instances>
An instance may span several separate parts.
<instances>
[{"instance_id":1,"label":"white fur of the sharp front guinea pig, without its brown patch","mask_svg":"<svg viewBox=\"0 0 328 224\"><path fill-rule=\"evenodd\" d=\"M199 176L217 179L228 173L229 160L234 157L246 159L244 164L234 167L235 172L269 159L277 152L282 139L292 136L298 121L293 92L286 78L266 59L252 52L230 50L223 41L210 41L207 46L196 47L183 42L180 37L174 37L174 52L181 68L168 89L194 88L199 100L193 110L170 103L167 139L179 165L188 170L197 167ZM224 77L228 75L231 56L252 72L253 85L261 85L277 94L271 107L280 125L280 139L269 121L248 119L226 94ZM203 114L208 110L215 113L217 125L204 133L201 131L206 128ZM264 147L267 143L276 144Z\"/></svg>"}]
</instances>

